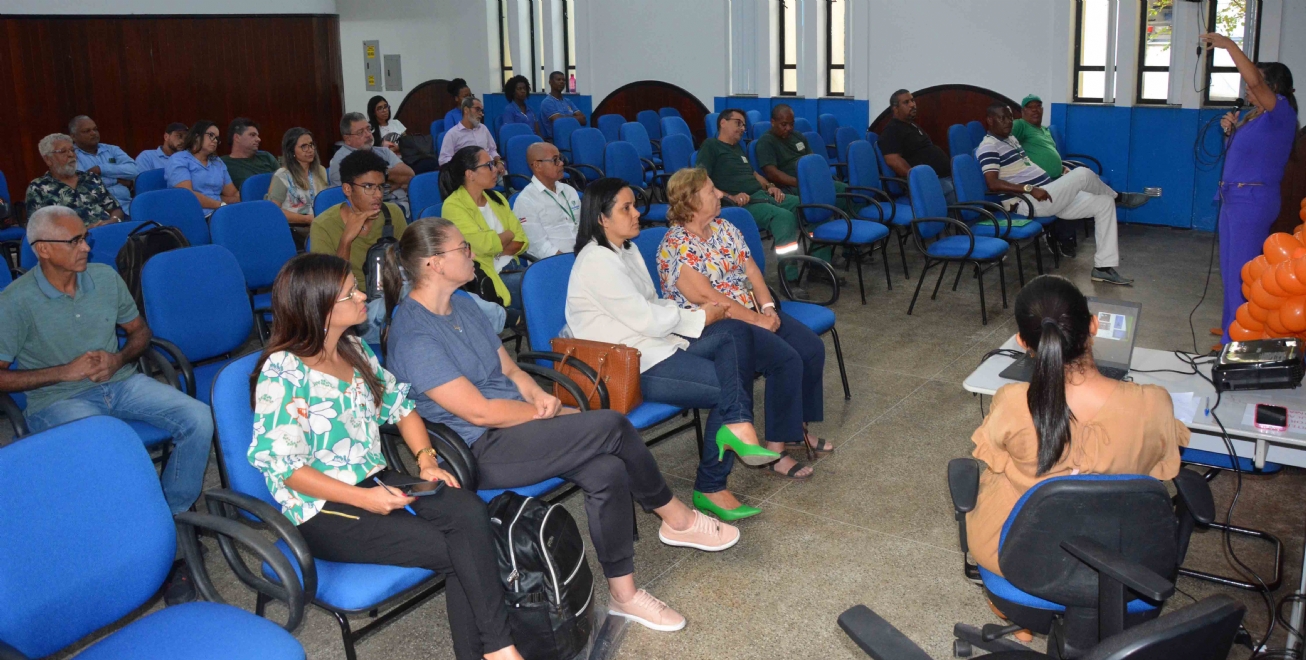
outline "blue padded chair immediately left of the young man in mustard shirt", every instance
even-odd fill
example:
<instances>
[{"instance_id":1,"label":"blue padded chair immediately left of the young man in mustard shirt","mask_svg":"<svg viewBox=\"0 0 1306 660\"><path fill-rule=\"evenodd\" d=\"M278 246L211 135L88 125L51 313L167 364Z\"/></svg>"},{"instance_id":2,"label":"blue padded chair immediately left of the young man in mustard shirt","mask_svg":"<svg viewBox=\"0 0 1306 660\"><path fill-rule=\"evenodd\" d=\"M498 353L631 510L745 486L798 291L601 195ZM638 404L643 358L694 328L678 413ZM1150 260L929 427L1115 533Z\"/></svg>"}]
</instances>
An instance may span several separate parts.
<instances>
[{"instance_id":1,"label":"blue padded chair immediately left of the young man in mustard shirt","mask_svg":"<svg viewBox=\"0 0 1306 660\"><path fill-rule=\"evenodd\" d=\"M272 322L272 284L295 256L295 239L286 216L272 201L229 204L209 218L213 244L227 248L244 273L259 336L266 340Z\"/></svg>"}]
</instances>

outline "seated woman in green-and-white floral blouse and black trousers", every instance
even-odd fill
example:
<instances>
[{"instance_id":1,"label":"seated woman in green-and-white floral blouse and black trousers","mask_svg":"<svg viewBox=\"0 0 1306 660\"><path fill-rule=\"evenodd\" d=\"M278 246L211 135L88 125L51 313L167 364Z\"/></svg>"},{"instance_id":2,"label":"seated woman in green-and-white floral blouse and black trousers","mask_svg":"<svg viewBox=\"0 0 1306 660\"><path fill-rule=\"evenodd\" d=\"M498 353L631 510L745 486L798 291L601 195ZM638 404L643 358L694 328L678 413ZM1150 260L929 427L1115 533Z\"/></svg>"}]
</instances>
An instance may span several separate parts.
<instances>
[{"instance_id":1,"label":"seated woman in green-and-white floral blouse and black trousers","mask_svg":"<svg viewBox=\"0 0 1306 660\"><path fill-rule=\"evenodd\" d=\"M249 463L313 557L413 566L445 575L458 660L521 659L512 643L485 503L436 464L407 388L353 328L367 319L349 261L290 260L272 291L277 318L253 382ZM394 423L421 476L447 487L410 498L417 480L385 465L379 425Z\"/></svg>"}]
</instances>

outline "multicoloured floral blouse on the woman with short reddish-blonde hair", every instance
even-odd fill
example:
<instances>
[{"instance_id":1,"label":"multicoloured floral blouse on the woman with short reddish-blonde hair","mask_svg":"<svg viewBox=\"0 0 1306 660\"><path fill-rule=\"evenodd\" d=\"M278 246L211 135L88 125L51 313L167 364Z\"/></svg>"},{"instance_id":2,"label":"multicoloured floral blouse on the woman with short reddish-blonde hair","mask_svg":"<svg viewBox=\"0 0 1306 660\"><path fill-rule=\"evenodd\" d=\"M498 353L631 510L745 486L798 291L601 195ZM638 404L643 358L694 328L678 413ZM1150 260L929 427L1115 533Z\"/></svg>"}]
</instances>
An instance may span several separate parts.
<instances>
[{"instance_id":1,"label":"multicoloured floral blouse on the woman with short reddish-blonde hair","mask_svg":"<svg viewBox=\"0 0 1306 660\"><path fill-rule=\"evenodd\" d=\"M696 310L699 306L686 299L675 285L680 268L690 267L707 277L717 291L755 310L757 305L752 295L752 284L744 271L748 259L752 256L748 254L743 233L724 218L708 222L707 240L693 235L683 225L673 226L666 231L666 238L662 239L657 252L657 273L662 280L662 294L680 307Z\"/></svg>"}]
</instances>

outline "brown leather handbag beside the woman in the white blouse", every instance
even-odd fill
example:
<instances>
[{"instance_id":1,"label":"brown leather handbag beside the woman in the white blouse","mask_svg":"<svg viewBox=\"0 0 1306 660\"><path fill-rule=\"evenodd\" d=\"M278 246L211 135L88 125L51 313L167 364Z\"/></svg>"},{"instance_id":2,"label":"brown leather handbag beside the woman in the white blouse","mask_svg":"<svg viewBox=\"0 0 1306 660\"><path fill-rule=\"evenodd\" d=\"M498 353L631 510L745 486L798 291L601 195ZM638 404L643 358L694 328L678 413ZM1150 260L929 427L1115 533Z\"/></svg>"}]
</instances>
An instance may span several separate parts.
<instances>
[{"instance_id":1,"label":"brown leather handbag beside the woman in the white blouse","mask_svg":"<svg viewBox=\"0 0 1306 660\"><path fill-rule=\"evenodd\" d=\"M598 410L598 384L592 383L571 362L584 362L598 374L607 387L609 408L619 413L629 413L644 401L640 395L640 352L624 344L607 344L567 337L554 337L550 342L554 353L562 353L558 371L576 382L581 391L588 391L585 399L590 410ZM554 383L554 396L563 405L579 406L576 399Z\"/></svg>"}]
</instances>

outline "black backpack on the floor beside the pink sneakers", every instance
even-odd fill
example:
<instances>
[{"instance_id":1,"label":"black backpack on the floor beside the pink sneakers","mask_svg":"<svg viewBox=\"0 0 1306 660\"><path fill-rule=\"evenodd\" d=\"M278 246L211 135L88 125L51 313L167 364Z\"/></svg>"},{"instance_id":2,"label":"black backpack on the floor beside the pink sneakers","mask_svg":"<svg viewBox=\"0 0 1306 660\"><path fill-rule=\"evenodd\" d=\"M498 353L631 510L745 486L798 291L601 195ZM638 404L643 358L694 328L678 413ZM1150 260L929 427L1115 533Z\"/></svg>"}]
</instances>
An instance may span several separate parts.
<instances>
[{"instance_id":1,"label":"black backpack on the floor beside the pink sneakers","mask_svg":"<svg viewBox=\"0 0 1306 660\"><path fill-rule=\"evenodd\" d=\"M490 523L517 651L571 660L594 630L594 575L576 520L560 504L507 491L490 501Z\"/></svg>"}]
</instances>

